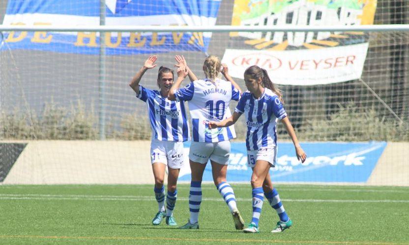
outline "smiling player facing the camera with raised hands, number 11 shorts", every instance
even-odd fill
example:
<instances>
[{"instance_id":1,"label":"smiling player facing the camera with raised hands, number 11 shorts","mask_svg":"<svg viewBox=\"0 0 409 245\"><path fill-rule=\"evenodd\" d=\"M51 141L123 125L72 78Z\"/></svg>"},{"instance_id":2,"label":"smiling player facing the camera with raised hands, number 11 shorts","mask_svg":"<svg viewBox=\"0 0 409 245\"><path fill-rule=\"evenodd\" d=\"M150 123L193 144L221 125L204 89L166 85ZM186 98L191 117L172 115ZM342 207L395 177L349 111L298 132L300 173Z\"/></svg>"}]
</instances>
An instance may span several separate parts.
<instances>
[{"instance_id":1,"label":"smiling player facing the camera with raised hands, number 11 shorts","mask_svg":"<svg viewBox=\"0 0 409 245\"><path fill-rule=\"evenodd\" d=\"M166 217L166 224L177 225L173 218L176 202L176 182L180 168L183 165L183 142L189 140L189 126L183 102L168 99L169 90L174 81L173 70L160 67L157 85L160 91L150 90L141 85L142 76L148 69L156 67L156 55L149 56L144 66L132 78L129 86L136 92L136 96L146 102L152 141L150 144L150 158L153 175L155 177L155 197L159 211L152 220L158 225ZM193 73L191 79L196 79ZM168 194L166 196L163 180L168 166Z\"/></svg>"}]
</instances>

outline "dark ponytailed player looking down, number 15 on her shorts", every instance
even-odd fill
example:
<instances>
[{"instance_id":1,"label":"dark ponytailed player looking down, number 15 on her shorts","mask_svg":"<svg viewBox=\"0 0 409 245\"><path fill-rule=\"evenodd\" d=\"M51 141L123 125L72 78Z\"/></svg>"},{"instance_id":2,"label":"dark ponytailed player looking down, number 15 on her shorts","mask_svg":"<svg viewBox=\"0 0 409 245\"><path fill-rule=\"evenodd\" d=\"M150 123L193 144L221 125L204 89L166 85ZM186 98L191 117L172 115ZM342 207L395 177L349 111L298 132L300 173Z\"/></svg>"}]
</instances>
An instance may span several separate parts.
<instances>
[{"instance_id":1,"label":"dark ponytailed player looking down, number 15 on her shorts","mask_svg":"<svg viewBox=\"0 0 409 245\"><path fill-rule=\"evenodd\" d=\"M302 162L306 159L304 150L298 143L297 136L287 117L282 104L282 95L268 77L267 72L251 66L244 72L246 91L234 110L233 116L222 122L210 122L210 128L228 127L233 125L241 114L245 114L247 124L247 161L253 169L251 186L253 188L253 218L250 225L244 229L245 233L259 232L259 219L264 196L271 207L277 211L280 221L271 232L282 232L292 225L292 221L285 212L278 192L271 183L270 167L274 167L277 155L276 124L281 120L295 147L295 154Z\"/></svg>"}]
</instances>

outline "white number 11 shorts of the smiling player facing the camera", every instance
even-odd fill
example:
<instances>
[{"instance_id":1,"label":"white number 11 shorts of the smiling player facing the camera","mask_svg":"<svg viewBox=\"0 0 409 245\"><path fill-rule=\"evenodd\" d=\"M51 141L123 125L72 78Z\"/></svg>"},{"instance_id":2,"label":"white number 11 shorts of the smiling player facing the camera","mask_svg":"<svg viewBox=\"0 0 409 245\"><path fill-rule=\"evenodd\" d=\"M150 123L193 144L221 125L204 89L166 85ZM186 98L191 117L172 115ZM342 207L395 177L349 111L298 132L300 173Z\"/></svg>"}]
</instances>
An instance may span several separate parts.
<instances>
[{"instance_id":1,"label":"white number 11 shorts of the smiling player facing the camera","mask_svg":"<svg viewBox=\"0 0 409 245\"><path fill-rule=\"evenodd\" d=\"M150 143L151 163L163 163L171 169L183 167L183 142L160 141L152 139Z\"/></svg>"}]
</instances>

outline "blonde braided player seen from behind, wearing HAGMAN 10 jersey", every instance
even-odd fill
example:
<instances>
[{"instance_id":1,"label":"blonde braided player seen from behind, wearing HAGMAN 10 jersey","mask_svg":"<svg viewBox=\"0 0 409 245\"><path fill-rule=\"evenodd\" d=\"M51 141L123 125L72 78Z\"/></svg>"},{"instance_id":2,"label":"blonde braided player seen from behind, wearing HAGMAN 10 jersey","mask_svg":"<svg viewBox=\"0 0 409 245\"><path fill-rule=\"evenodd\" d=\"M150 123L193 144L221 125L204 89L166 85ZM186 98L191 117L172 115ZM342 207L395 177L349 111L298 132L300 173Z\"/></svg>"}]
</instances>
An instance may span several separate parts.
<instances>
[{"instance_id":1,"label":"blonde braided player seen from behind, wearing HAGMAN 10 jersey","mask_svg":"<svg viewBox=\"0 0 409 245\"><path fill-rule=\"evenodd\" d=\"M210 120L223 120L230 117L230 100L240 98L239 87L229 76L227 67L223 70L223 74L230 81L217 78L220 69L220 59L213 55L208 56L203 66L206 78L193 81L186 87L178 89L188 71L185 66L180 66L177 70L178 78L169 92L170 100L188 101L193 124L193 141L189 152L192 172L189 195L190 219L180 227L181 229L199 229L199 210L202 202L201 183L204 168L209 159L214 184L229 206L235 228L243 229L244 226L244 221L237 210L234 191L226 181L230 139L235 138L234 127L220 130L208 128Z\"/></svg>"}]
</instances>

